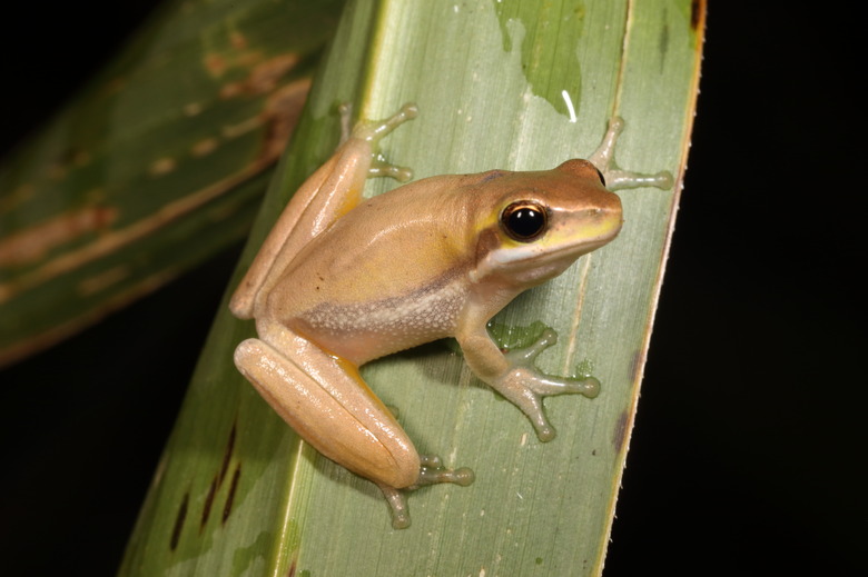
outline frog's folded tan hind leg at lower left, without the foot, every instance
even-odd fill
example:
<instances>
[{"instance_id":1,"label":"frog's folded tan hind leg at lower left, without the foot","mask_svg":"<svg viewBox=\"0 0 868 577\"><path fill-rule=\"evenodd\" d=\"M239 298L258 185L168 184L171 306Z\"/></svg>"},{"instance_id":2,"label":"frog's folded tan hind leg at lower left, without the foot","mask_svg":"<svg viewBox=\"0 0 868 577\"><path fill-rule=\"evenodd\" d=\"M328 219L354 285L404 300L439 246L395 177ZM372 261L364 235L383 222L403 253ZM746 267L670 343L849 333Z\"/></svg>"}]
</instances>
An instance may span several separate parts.
<instances>
[{"instance_id":1,"label":"frog's folded tan hind leg at lower left, without the foot","mask_svg":"<svg viewBox=\"0 0 868 577\"><path fill-rule=\"evenodd\" d=\"M277 339L279 350L259 339L235 350L238 370L277 414L347 469L394 488L415 484L420 457L413 442L355 367L285 329Z\"/></svg>"}]
</instances>

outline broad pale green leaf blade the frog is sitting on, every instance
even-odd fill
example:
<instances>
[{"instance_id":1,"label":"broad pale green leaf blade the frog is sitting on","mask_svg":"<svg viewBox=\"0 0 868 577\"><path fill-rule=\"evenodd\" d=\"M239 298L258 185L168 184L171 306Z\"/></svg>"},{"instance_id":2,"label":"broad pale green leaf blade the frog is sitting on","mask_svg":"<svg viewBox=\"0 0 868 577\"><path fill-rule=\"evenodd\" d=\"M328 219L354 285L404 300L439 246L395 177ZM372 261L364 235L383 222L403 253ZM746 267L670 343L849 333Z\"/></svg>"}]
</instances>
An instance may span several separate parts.
<instances>
[{"instance_id":1,"label":"broad pale green leaf blade the frog is sitting on","mask_svg":"<svg viewBox=\"0 0 868 577\"><path fill-rule=\"evenodd\" d=\"M334 149L337 102L364 118L417 102L420 117L381 147L416 178L549 169L589 156L617 113L627 121L619 165L668 169L678 185L622 192L621 236L497 317L554 327L560 342L540 368L593 366L602 391L548 399L559 436L541 444L442 344L365 366L421 452L476 472L470 487L413 493L413 526L393 530L379 490L300 442L237 374L231 351L253 324L224 307L121 574L598 575L684 168L703 21L704 4L689 0L539 10L506 0L352 2L234 282ZM394 186L377 179L366 191Z\"/></svg>"}]
</instances>

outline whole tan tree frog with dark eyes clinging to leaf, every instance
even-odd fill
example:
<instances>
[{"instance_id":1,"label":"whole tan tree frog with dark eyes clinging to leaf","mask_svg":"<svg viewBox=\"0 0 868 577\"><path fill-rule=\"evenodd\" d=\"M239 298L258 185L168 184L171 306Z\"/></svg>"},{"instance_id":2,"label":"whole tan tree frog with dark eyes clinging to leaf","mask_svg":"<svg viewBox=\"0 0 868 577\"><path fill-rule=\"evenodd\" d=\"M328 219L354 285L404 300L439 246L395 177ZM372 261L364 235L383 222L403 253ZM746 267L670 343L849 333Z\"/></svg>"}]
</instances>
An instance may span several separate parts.
<instances>
[{"instance_id":1,"label":"whole tan tree frog with dark eyes clinging to leaf","mask_svg":"<svg viewBox=\"0 0 868 577\"><path fill-rule=\"evenodd\" d=\"M535 357L556 336L504 352L489 320L523 290L563 272L621 229L621 201L605 188L669 188L671 176L612 167L623 123L610 122L590 160L545 171L491 170L425 178L374 198L368 176L410 179L374 162L381 138L417 113L405 105L383 121L359 122L298 189L263 243L230 309L256 319L259 338L238 345L235 364L266 401L319 452L379 486L395 528L410 525L402 489L473 481L421 456L362 379L365 362L455 337L471 370L531 420L540 440L555 435L542 399L595 397L596 379L543 375Z\"/></svg>"}]
</instances>

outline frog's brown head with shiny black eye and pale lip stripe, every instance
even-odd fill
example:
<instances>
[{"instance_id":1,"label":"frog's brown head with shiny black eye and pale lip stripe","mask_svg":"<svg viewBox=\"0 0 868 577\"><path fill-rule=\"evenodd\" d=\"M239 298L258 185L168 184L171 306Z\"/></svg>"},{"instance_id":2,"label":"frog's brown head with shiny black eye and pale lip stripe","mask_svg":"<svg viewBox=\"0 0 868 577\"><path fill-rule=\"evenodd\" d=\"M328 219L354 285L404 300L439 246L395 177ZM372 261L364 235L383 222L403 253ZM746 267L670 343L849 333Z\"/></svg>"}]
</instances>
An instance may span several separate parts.
<instances>
[{"instance_id":1,"label":"frog's brown head with shiny black eye and pale lip stripe","mask_svg":"<svg viewBox=\"0 0 868 577\"><path fill-rule=\"evenodd\" d=\"M568 160L542 172L489 172L480 188L489 189L483 198L494 206L481 226L477 279L539 285L621 230L621 200L588 160Z\"/></svg>"}]
</instances>

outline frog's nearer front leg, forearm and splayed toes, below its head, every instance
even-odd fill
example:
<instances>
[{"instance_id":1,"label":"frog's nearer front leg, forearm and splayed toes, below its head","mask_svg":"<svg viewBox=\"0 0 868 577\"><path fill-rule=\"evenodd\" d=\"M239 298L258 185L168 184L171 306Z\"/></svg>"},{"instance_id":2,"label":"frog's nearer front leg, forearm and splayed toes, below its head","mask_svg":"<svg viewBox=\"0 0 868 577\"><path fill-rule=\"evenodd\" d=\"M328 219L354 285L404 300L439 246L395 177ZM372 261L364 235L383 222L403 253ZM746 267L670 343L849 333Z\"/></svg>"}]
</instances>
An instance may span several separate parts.
<instances>
[{"instance_id":1,"label":"frog's nearer front leg, forearm and splayed toes, below its head","mask_svg":"<svg viewBox=\"0 0 868 577\"><path fill-rule=\"evenodd\" d=\"M535 366L536 357L558 341L552 329L543 331L530 347L503 352L485 329L486 319L477 318L465 325L456 338L471 370L497 392L519 407L533 424L542 441L552 440L555 429L543 408L543 397L579 394L594 398L600 394L600 381L560 378L542 374Z\"/></svg>"}]
</instances>

